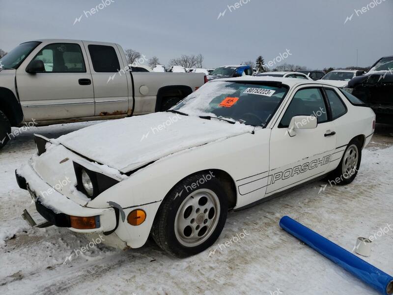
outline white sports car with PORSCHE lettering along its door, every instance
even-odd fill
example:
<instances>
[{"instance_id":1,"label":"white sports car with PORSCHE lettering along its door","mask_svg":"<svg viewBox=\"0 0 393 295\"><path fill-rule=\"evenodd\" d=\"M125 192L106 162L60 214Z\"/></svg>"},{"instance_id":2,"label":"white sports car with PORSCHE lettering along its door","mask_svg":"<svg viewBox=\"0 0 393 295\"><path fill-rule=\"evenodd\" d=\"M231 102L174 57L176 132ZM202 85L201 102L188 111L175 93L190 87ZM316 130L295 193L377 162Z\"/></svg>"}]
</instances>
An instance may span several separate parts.
<instances>
[{"instance_id":1,"label":"white sports car with PORSCHE lettering along its door","mask_svg":"<svg viewBox=\"0 0 393 295\"><path fill-rule=\"evenodd\" d=\"M348 184L374 133L355 96L310 80L214 80L168 112L35 136L16 171L37 211L58 227L120 248L151 235L177 257L210 247L228 210L322 177Z\"/></svg>"}]
</instances>

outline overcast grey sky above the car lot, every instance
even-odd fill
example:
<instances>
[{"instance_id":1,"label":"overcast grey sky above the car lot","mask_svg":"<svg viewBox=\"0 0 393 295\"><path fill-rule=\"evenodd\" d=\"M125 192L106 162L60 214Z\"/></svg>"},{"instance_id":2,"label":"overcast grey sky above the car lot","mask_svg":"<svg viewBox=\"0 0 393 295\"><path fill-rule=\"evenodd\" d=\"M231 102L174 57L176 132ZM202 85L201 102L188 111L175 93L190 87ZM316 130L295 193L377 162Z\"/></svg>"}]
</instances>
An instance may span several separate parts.
<instances>
[{"instance_id":1,"label":"overcast grey sky above the car lot","mask_svg":"<svg viewBox=\"0 0 393 295\"><path fill-rule=\"evenodd\" d=\"M106 1L90 15L101 0L0 0L0 48L40 38L108 41L165 64L201 53L208 68L258 55L267 63L287 49L282 62L319 69L356 65L357 49L359 66L393 55L393 0L240 0L238 8L227 6L235 0Z\"/></svg>"}]
</instances>

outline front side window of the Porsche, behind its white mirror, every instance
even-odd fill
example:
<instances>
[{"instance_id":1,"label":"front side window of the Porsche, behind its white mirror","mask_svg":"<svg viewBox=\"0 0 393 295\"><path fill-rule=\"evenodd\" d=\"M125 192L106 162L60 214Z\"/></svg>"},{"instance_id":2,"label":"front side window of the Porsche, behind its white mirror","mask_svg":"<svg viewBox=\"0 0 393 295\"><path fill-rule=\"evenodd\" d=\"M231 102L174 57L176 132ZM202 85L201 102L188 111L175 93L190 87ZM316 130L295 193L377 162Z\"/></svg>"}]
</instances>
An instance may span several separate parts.
<instances>
[{"instance_id":1,"label":"front side window of the Porsche, behind its white mirror","mask_svg":"<svg viewBox=\"0 0 393 295\"><path fill-rule=\"evenodd\" d=\"M319 88L297 91L281 119L279 128L287 128L295 116L314 116L318 119L318 124L326 122L328 114L321 91Z\"/></svg>"}]
</instances>

